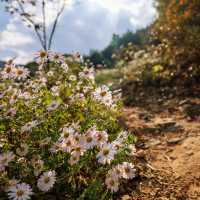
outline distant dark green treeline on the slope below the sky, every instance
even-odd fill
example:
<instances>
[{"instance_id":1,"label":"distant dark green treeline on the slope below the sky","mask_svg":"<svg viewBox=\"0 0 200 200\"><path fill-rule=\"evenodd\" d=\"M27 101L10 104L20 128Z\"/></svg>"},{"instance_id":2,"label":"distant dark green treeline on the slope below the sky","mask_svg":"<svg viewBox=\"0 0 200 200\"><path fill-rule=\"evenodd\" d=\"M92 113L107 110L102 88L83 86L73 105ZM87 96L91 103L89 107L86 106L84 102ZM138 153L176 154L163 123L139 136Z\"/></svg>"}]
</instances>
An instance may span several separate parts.
<instances>
[{"instance_id":1,"label":"distant dark green treeline on the slope below the sky","mask_svg":"<svg viewBox=\"0 0 200 200\"><path fill-rule=\"evenodd\" d=\"M143 46L149 41L149 27L136 31L135 33L127 31L123 35L113 34L110 44L103 50L91 50L88 56L84 56L85 60L90 60L95 66L104 65L113 67L115 60L113 54L120 48L126 47L128 43Z\"/></svg>"}]
</instances>

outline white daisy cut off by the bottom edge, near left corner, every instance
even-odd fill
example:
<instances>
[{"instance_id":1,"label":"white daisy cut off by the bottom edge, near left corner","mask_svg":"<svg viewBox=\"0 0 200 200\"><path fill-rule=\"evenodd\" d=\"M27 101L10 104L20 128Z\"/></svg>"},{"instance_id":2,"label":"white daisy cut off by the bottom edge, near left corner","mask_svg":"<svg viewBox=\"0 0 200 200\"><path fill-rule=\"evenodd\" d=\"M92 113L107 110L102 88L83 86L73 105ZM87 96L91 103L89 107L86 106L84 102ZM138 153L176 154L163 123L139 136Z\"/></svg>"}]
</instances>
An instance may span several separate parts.
<instances>
[{"instance_id":1,"label":"white daisy cut off by the bottom edge, near left corner","mask_svg":"<svg viewBox=\"0 0 200 200\"><path fill-rule=\"evenodd\" d=\"M31 187L26 183L18 183L8 189L8 198L13 200L28 200L32 194Z\"/></svg>"}]
</instances>

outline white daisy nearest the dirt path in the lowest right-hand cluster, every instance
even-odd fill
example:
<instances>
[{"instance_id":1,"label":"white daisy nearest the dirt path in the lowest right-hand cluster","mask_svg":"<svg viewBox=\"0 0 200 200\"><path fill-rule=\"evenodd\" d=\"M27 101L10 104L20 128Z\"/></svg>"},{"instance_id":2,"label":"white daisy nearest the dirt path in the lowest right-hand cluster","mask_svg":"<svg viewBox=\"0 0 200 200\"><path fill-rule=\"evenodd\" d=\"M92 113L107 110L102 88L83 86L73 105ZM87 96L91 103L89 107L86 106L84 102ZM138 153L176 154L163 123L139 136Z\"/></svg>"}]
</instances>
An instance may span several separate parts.
<instances>
[{"instance_id":1,"label":"white daisy nearest the dirt path in the lowest right-hand cluster","mask_svg":"<svg viewBox=\"0 0 200 200\"><path fill-rule=\"evenodd\" d=\"M123 162L121 165L122 177L125 179L131 179L135 177L136 169L132 163Z\"/></svg>"}]
</instances>

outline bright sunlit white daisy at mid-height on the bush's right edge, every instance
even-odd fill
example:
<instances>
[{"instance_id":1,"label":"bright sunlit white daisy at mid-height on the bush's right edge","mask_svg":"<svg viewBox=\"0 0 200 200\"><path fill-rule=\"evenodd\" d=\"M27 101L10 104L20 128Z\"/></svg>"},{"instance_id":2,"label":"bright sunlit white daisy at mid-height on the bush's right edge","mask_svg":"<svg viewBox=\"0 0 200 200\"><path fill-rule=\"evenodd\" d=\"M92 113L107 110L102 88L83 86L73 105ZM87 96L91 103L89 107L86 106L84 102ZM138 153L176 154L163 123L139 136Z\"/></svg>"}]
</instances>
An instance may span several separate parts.
<instances>
[{"instance_id":1,"label":"bright sunlit white daisy at mid-height on the bush's right edge","mask_svg":"<svg viewBox=\"0 0 200 200\"><path fill-rule=\"evenodd\" d=\"M111 106L113 103L112 93L109 91L109 88L105 85L98 87L93 92L93 97L96 101L105 104L106 106Z\"/></svg>"}]
</instances>

